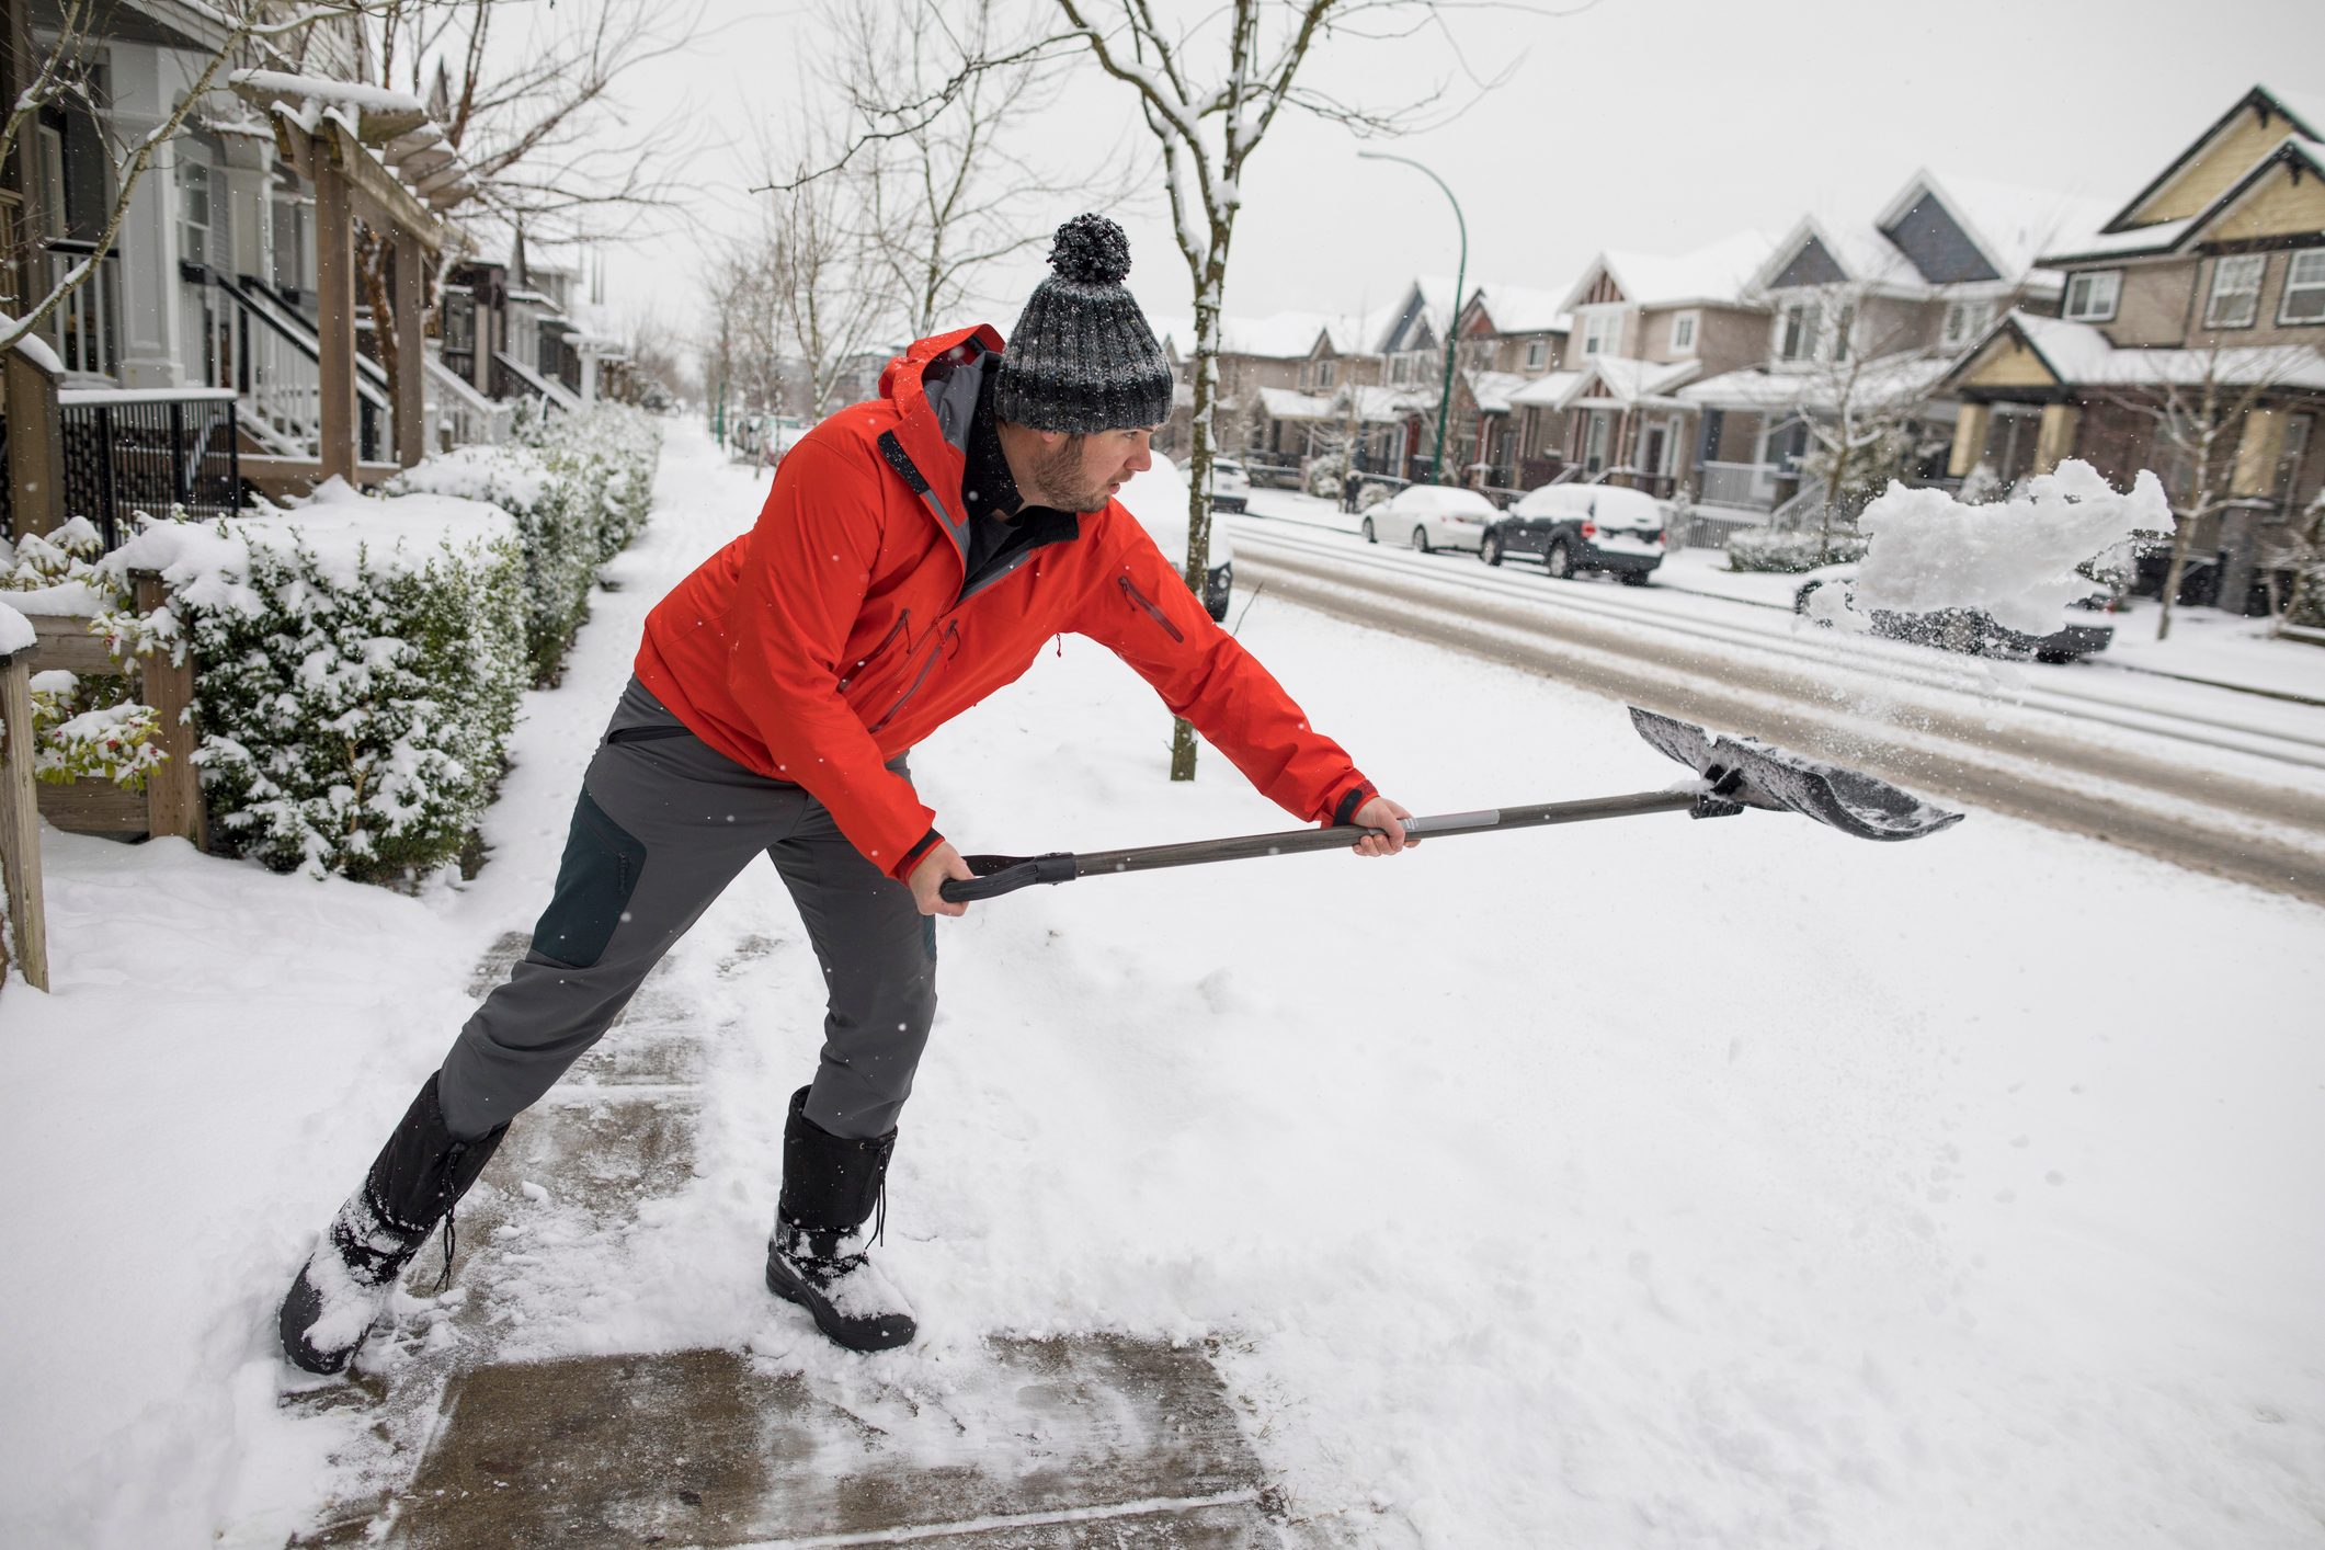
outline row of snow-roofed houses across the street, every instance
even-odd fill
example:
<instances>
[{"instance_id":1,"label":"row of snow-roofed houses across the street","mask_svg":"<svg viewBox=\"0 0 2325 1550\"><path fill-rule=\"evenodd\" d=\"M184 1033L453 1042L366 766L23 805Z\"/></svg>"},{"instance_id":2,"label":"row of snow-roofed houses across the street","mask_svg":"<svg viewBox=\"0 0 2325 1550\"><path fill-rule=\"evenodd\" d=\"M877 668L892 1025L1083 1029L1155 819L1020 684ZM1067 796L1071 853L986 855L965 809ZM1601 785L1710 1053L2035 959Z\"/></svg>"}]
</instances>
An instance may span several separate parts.
<instances>
[{"instance_id":1,"label":"row of snow-roofed houses across the street","mask_svg":"<svg viewBox=\"0 0 2325 1550\"><path fill-rule=\"evenodd\" d=\"M1453 481L1611 479L1716 532L1890 476L2153 467L2246 607L2325 483L2320 170L2325 100L2255 86L2120 204L1916 170L1853 218L1609 249L1562 290L1416 279L1367 316L1228 318L1218 425L1260 476L1432 479L1451 339Z\"/></svg>"}]
</instances>

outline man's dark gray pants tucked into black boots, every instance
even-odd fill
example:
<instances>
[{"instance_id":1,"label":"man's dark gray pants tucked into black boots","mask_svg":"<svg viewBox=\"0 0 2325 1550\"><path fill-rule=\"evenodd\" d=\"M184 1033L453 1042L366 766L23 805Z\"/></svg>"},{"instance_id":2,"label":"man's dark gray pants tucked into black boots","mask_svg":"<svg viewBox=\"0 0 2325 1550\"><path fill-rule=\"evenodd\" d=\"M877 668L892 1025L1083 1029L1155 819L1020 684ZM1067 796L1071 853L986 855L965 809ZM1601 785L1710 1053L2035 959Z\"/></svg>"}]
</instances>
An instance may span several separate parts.
<instances>
[{"instance_id":1,"label":"man's dark gray pants tucked into black boots","mask_svg":"<svg viewBox=\"0 0 2325 1550\"><path fill-rule=\"evenodd\" d=\"M444 1057L451 1132L481 1136L549 1092L760 851L823 964L807 1118L835 1136L895 1129L937 1013L935 920L821 802L716 753L632 679L581 781L532 950Z\"/></svg>"}]
</instances>

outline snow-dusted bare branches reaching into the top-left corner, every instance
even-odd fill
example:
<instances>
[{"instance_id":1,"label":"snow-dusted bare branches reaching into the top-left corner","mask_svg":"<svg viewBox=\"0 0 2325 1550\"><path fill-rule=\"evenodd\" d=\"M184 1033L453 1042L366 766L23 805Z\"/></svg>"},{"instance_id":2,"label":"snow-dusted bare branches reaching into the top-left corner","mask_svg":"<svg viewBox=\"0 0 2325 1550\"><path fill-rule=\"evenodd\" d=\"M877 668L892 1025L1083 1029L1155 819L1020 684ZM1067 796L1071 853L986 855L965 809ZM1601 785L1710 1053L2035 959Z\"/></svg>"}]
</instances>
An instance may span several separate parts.
<instances>
[{"instance_id":1,"label":"snow-dusted bare branches reaching into the top-left corner","mask_svg":"<svg viewBox=\"0 0 2325 1550\"><path fill-rule=\"evenodd\" d=\"M221 70L251 63L291 63L284 56L286 44L302 37L319 21L351 16L358 9L353 2L295 7L288 12L272 0L216 0L214 5L202 5L200 14L221 28L221 33L207 53L202 53L200 67L188 77L177 109L137 139L109 146L112 202L105 209L105 225L98 232L95 251L56 277L23 316L0 316L0 349L12 349L19 339L46 325L49 316L95 274L98 258L109 253L114 239L121 235L121 223L130 214L137 184L153 165L153 153L186 128L186 116L202 102L202 95L216 84ZM98 0L63 2L56 42L40 56L37 67L30 72L33 79L19 91L7 123L0 128L0 165L14 165L19 135L53 102L79 100L98 123L109 121L95 88L95 72L102 58L105 30L112 21L112 7ZM42 232L30 223L7 232L7 258L19 265L19 272L30 270L23 258L33 253L40 237Z\"/></svg>"}]
</instances>

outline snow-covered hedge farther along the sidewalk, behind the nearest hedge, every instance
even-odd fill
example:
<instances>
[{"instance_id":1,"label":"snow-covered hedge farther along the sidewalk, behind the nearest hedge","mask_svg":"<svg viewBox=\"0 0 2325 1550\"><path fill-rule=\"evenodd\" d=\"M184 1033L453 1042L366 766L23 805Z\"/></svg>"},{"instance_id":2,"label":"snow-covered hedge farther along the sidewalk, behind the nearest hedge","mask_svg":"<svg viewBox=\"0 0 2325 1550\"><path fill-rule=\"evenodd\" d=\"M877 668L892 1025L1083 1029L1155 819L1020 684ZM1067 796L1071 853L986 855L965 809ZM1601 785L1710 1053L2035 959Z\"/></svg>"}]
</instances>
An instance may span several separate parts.
<instances>
[{"instance_id":1,"label":"snow-covered hedge farther along the sidewalk, behind the nearest hedge","mask_svg":"<svg viewBox=\"0 0 2325 1550\"><path fill-rule=\"evenodd\" d=\"M588 618L598 567L618 555L653 497L660 425L623 404L528 416L507 446L463 446L398 474L395 495L456 495L516 518L525 558L525 653L539 683Z\"/></svg>"}]
</instances>

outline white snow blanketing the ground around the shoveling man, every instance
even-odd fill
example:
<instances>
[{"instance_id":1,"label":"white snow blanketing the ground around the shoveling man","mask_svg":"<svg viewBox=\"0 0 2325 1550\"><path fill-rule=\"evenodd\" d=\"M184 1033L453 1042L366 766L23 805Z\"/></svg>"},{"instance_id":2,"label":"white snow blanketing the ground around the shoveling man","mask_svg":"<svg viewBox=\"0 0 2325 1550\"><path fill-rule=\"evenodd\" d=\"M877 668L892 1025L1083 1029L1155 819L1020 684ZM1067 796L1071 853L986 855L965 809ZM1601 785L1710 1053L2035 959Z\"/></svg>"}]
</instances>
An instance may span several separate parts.
<instances>
[{"instance_id":1,"label":"white snow blanketing the ground around the shoveling man","mask_svg":"<svg viewBox=\"0 0 2325 1550\"><path fill-rule=\"evenodd\" d=\"M644 609L763 493L674 430L472 888L51 834L56 992L0 1016L0 1541L298 1527L346 1429L277 1413L274 1297L530 927ZM1267 597L1244 639L1416 811L1676 774L1558 683ZM965 851L1286 827L1216 753L1169 785L1167 737L1070 639L914 772ZM916 1348L863 1364L756 1285L821 997L753 869L670 976L725 1029L693 1185L574 1248L623 1278L546 1278L507 1352L942 1387L988 1332L1216 1336L1293 1513L1360 1543L2318 1543L2325 911L1988 813L1909 846L1746 813L1090 878L939 934L884 1250Z\"/></svg>"}]
</instances>

